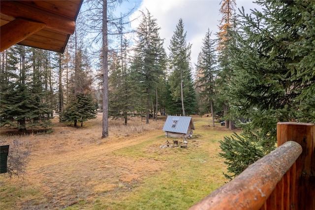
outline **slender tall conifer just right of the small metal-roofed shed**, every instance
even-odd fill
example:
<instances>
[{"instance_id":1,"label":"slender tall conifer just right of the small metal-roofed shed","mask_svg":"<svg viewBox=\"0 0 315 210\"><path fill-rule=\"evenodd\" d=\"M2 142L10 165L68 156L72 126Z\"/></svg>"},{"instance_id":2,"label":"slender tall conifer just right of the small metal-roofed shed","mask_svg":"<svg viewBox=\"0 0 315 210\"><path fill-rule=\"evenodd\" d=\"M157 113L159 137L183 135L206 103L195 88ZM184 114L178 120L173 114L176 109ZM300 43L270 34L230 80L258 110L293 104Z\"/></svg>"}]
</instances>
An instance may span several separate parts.
<instances>
[{"instance_id":1,"label":"slender tall conifer just right of the small metal-roofed shed","mask_svg":"<svg viewBox=\"0 0 315 210\"><path fill-rule=\"evenodd\" d=\"M215 126L214 101L216 99L216 83L215 79L218 76L217 56L216 56L216 41L211 39L211 32L208 29L201 53L199 54L196 70L198 71L197 87L200 88L200 97L202 98L202 114L211 112L212 123Z\"/></svg>"}]
</instances>

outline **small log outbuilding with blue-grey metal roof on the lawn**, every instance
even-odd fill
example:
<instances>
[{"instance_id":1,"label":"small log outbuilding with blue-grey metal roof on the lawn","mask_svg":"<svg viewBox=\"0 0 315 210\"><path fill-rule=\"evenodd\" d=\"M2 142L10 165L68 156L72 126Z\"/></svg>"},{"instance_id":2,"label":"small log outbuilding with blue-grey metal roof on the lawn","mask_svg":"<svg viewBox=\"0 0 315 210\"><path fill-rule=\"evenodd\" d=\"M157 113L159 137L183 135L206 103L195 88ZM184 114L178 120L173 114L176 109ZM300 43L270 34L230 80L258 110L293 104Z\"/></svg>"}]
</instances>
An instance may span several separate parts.
<instances>
[{"instance_id":1,"label":"small log outbuilding with blue-grey metal roof on the lawn","mask_svg":"<svg viewBox=\"0 0 315 210\"><path fill-rule=\"evenodd\" d=\"M165 137L174 138L190 138L192 136L192 130L195 127L192 123L191 117L182 116L167 116L163 131L165 131Z\"/></svg>"}]
</instances>

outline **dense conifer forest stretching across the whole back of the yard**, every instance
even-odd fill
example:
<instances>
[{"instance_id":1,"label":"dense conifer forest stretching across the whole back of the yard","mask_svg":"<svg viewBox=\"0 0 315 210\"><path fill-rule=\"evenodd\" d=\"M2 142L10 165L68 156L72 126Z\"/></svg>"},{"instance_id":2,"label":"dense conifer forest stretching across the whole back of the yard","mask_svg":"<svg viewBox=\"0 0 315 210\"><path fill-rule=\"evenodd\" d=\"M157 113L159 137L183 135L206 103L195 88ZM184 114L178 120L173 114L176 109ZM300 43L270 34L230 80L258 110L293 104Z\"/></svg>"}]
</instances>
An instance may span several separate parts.
<instances>
[{"instance_id":1,"label":"dense conifer forest stretching across the whole back of the yard","mask_svg":"<svg viewBox=\"0 0 315 210\"><path fill-rule=\"evenodd\" d=\"M150 11L128 31L128 14L114 16L119 3L85 1L63 54L20 45L0 54L1 127L49 127L55 115L82 126L104 107L126 125L131 115L211 113L213 126L242 128L221 141L232 178L274 149L277 122L315 122L315 1L257 0L262 10L246 14L222 0L220 32L205 29L195 65L182 19L167 55ZM102 33L109 44L95 50Z\"/></svg>"}]
</instances>

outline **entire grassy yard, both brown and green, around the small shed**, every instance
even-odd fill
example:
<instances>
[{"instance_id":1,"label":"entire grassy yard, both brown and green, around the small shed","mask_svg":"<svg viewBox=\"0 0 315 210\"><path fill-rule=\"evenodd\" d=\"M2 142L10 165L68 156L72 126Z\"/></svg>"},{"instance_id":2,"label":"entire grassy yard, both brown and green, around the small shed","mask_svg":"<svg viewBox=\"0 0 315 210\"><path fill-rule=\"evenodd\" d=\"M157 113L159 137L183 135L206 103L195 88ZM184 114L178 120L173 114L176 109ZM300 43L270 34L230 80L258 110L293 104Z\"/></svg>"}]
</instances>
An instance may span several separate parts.
<instances>
[{"instance_id":1,"label":"entire grassy yard, both brown and green, around the small shed","mask_svg":"<svg viewBox=\"0 0 315 210\"><path fill-rule=\"evenodd\" d=\"M188 209L226 181L219 140L232 132L210 120L193 117L188 148L160 148L173 140L163 118L110 120L107 139L101 116L79 128L54 119L48 134L1 134L1 145L19 138L31 157L24 180L0 176L0 209Z\"/></svg>"}]
</instances>

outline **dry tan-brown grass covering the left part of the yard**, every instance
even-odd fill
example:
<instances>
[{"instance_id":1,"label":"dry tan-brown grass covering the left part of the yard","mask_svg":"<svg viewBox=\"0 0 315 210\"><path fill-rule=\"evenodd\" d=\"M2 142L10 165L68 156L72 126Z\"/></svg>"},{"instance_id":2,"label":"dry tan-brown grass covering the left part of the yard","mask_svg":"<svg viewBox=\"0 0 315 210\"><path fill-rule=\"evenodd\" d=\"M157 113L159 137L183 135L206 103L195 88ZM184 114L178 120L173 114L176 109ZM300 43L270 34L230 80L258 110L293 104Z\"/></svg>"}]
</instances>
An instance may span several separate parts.
<instances>
[{"instance_id":1,"label":"dry tan-brown grass covering the left part of the yard","mask_svg":"<svg viewBox=\"0 0 315 210\"><path fill-rule=\"evenodd\" d=\"M1 135L2 143L10 144L14 138L27 143L31 156L24 180L0 176L0 209L57 210L76 205L79 209L90 209L97 206L99 200L118 202L142 185L144 179L164 169L169 171L167 166L170 162L163 158L178 156L177 150L159 149L165 141L162 131L164 119L150 120L148 125L141 117L134 117L130 118L127 126L124 120L109 120L109 137L106 139L100 138L101 115L78 128L58 120L53 120L52 133ZM202 132L208 132L209 127L202 129L205 130ZM199 152L201 144L208 147L212 143L197 140L196 152ZM222 171L223 164L214 155L218 153L218 142L214 144L216 148L205 150L209 150L211 158L218 164L216 167ZM134 151L133 156L122 153L122 150L140 146L145 150ZM181 155L188 151L183 152ZM157 161L156 158L160 159ZM224 182L221 173L213 177L220 183Z\"/></svg>"}]
</instances>

